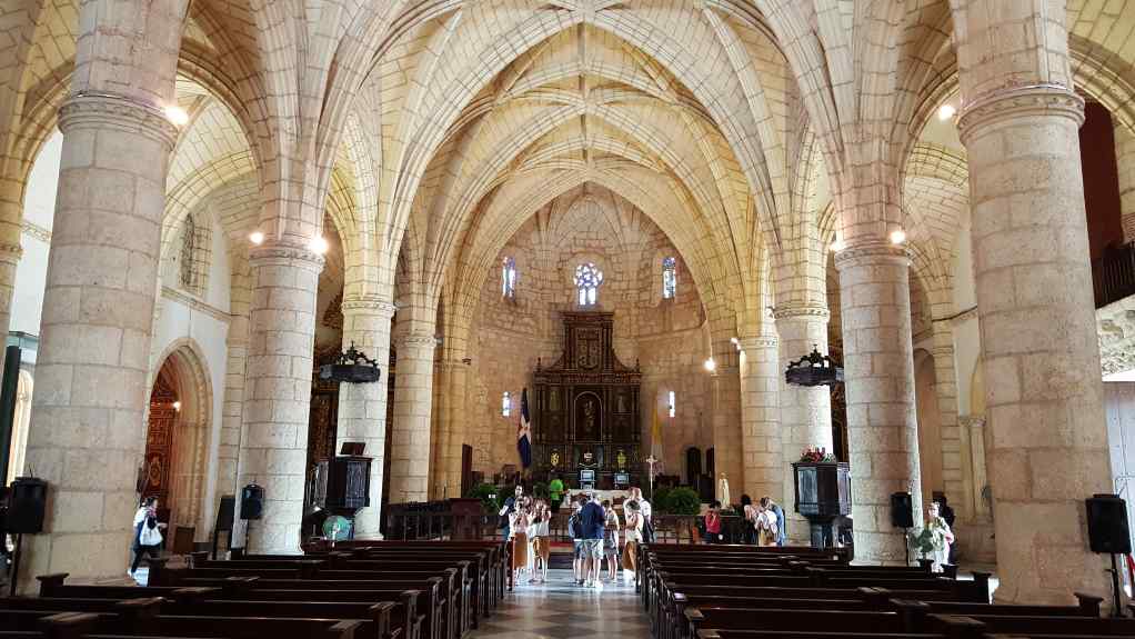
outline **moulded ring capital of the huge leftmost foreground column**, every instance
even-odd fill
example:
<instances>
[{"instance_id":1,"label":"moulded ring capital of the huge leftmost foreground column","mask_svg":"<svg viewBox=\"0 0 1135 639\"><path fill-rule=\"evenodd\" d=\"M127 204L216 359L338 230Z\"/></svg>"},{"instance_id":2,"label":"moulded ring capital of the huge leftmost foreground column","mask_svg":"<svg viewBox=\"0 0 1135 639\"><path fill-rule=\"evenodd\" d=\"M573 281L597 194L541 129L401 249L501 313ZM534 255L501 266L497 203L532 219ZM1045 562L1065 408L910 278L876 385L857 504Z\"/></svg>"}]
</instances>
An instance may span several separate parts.
<instances>
[{"instance_id":1,"label":"moulded ring capital of the huge leftmost foreground column","mask_svg":"<svg viewBox=\"0 0 1135 639\"><path fill-rule=\"evenodd\" d=\"M72 95L59 108L59 131L67 134L83 128L117 129L141 133L173 151L178 131L155 104L112 93Z\"/></svg>"}]
</instances>

